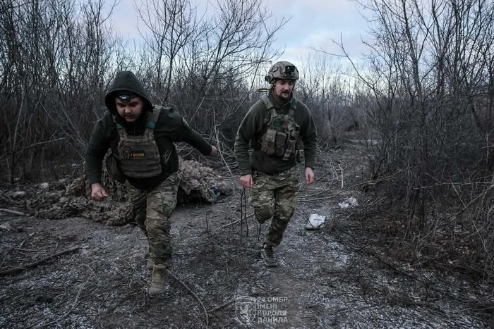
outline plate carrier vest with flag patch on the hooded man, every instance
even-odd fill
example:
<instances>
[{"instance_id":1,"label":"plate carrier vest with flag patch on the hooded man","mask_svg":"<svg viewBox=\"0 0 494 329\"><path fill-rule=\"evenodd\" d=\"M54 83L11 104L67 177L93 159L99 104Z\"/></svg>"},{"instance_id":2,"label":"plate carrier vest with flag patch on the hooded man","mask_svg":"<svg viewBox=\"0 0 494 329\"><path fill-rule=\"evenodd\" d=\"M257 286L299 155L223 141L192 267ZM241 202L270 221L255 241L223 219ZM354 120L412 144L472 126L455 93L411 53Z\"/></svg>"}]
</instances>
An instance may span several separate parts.
<instances>
[{"instance_id":1,"label":"plate carrier vest with flag patch on the hooded man","mask_svg":"<svg viewBox=\"0 0 494 329\"><path fill-rule=\"evenodd\" d=\"M119 132L119 160L123 174L132 178L150 178L162 173L159 150L154 130L161 108L147 113L146 128L142 136L129 136L122 125L116 123Z\"/></svg>"}]
</instances>

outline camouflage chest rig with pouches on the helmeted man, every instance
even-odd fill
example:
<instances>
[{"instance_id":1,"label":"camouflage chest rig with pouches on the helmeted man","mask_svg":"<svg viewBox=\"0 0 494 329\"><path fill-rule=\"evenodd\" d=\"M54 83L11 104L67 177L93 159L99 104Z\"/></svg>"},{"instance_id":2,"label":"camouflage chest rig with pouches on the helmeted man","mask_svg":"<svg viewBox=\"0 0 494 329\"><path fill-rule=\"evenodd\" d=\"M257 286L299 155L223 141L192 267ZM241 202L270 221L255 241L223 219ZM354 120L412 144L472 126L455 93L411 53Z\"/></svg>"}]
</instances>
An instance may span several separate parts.
<instances>
[{"instance_id":1,"label":"camouflage chest rig with pouches on the helmeted man","mask_svg":"<svg viewBox=\"0 0 494 329\"><path fill-rule=\"evenodd\" d=\"M261 151L268 156L281 157L283 160L290 159L297 151L300 137L300 126L295 122L295 101L288 114L278 114L275 104L267 96L261 98L270 111L271 118L267 123L267 130L261 137Z\"/></svg>"}]
</instances>

